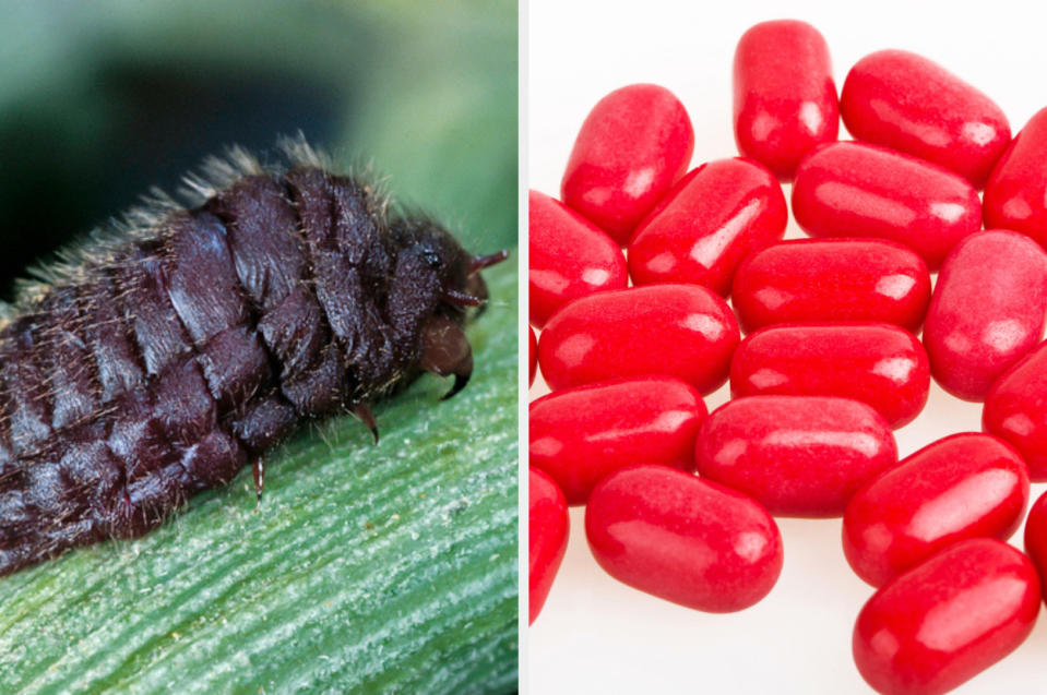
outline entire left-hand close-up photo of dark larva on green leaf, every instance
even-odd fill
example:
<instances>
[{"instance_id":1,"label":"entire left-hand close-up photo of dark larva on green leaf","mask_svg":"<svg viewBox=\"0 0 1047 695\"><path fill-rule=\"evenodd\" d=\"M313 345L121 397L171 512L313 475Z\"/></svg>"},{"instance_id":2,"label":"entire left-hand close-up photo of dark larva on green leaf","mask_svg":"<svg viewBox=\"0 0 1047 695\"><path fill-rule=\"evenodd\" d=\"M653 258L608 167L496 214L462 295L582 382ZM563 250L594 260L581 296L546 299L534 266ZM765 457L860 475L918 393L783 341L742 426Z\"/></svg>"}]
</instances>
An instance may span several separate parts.
<instances>
[{"instance_id":1,"label":"entire left-hand close-up photo of dark larva on green leaf","mask_svg":"<svg viewBox=\"0 0 1047 695\"><path fill-rule=\"evenodd\" d=\"M0 22L0 691L511 691L515 5L102 4Z\"/></svg>"}]
</instances>

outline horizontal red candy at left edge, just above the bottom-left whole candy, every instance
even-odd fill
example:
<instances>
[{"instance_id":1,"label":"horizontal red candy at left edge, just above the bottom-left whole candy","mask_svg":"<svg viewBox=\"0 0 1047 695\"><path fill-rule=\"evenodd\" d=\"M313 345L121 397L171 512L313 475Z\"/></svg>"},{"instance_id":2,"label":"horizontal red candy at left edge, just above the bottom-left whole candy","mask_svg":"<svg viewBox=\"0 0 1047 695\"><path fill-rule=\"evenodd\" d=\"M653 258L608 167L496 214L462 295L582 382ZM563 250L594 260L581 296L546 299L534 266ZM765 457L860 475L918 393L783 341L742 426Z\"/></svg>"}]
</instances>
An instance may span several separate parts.
<instances>
[{"instance_id":1,"label":"horizontal red candy at left edge, just above the bottom-left whole candy","mask_svg":"<svg viewBox=\"0 0 1047 695\"><path fill-rule=\"evenodd\" d=\"M531 404L531 465L549 474L568 504L633 464L694 469L706 415L701 394L671 376L641 376L558 391Z\"/></svg>"}]
</instances>

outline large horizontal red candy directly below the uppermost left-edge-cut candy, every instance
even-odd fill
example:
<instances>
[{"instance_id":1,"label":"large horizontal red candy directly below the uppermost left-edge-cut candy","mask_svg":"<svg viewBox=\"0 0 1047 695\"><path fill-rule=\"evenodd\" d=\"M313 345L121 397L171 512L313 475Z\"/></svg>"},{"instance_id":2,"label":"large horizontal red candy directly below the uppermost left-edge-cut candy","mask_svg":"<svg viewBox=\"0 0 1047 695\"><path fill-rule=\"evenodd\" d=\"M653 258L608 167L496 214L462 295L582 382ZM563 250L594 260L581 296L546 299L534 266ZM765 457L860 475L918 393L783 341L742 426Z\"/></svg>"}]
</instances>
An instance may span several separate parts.
<instances>
[{"instance_id":1,"label":"large horizontal red candy directly below the uppermost left-edge-cut candy","mask_svg":"<svg viewBox=\"0 0 1047 695\"><path fill-rule=\"evenodd\" d=\"M738 322L697 285L652 285L591 295L560 310L538 339L554 391L618 376L668 374L703 394L727 379Z\"/></svg>"}]
</instances>

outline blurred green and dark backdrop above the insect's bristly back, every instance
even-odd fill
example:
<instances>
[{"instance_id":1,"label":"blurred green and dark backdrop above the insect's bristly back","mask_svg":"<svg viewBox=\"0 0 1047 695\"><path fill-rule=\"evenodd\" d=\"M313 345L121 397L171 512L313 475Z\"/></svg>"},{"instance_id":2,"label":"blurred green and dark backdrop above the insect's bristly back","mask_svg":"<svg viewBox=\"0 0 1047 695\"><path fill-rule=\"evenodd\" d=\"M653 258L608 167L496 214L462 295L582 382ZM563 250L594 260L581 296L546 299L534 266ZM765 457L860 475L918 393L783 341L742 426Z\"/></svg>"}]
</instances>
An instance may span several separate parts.
<instances>
[{"instance_id":1,"label":"blurred green and dark backdrop above the insect's bristly back","mask_svg":"<svg viewBox=\"0 0 1047 695\"><path fill-rule=\"evenodd\" d=\"M0 279L230 144L301 130L516 238L513 2L0 3Z\"/></svg>"}]
</instances>

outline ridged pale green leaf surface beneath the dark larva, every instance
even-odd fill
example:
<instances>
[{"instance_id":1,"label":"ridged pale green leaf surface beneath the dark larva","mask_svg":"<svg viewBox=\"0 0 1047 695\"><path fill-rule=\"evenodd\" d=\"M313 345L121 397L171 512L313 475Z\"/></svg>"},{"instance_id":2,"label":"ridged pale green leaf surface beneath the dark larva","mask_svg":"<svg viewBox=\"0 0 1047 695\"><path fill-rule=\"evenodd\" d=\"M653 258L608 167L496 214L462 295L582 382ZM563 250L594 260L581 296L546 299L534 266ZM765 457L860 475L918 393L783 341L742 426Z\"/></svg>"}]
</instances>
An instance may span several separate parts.
<instances>
[{"instance_id":1,"label":"ridged pale green leaf surface beneath the dark larva","mask_svg":"<svg viewBox=\"0 0 1047 695\"><path fill-rule=\"evenodd\" d=\"M0 691L511 691L516 271L486 276L473 381L426 375L300 432L148 537L0 578Z\"/></svg>"}]
</instances>

